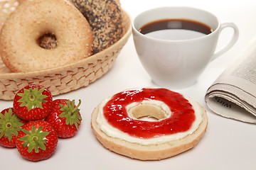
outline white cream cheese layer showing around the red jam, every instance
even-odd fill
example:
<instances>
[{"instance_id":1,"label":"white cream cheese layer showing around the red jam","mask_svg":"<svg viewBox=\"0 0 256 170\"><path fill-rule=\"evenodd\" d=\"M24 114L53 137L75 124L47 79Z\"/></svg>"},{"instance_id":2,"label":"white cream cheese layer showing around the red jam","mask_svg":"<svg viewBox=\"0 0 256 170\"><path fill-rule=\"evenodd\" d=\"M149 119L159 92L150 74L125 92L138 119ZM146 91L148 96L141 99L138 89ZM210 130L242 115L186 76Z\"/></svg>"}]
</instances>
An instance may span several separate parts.
<instances>
[{"instance_id":1,"label":"white cream cheese layer showing around the red jam","mask_svg":"<svg viewBox=\"0 0 256 170\"><path fill-rule=\"evenodd\" d=\"M97 114L96 122L100 130L105 132L105 134L109 137L119 138L120 140L126 140L127 142L138 143L140 145L157 145L157 144L162 144L164 142L169 142L172 140L179 140L195 132L198 126L200 125L201 121L203 120L203 117L202 117L203 111L201 109L201 106L196 101L193 101L190 98L186 98L189 101L189 103L191 103L191 105L193 106L193 110L195 111L195 115L196 115L196 119L194 120L189 130L187 130L186 132L178 132L172 135L151 137L149 139L132 137L129 134L122 132L117 128L112 127L112 125L110 125L105 119L105 116L103 114L103 108L110 99L111 98L106 98L104 101L102 101L102 103L100 103L100 106L99 106L99 112ZM142 101L142 103L137 103L137 102L131 103L126 107L129 117L132 118L132 114L129 113L129 108L132 108L133 106L144 104L144 103L154 104L155 106L158 106L159 108L164 110L166 112L166 118L171 116L171 111L169 109L169 106L167 106L164 102L156 101L156 100L151 100L151 101L145 100L145 101Z\"/></svg>"}]
</instances>

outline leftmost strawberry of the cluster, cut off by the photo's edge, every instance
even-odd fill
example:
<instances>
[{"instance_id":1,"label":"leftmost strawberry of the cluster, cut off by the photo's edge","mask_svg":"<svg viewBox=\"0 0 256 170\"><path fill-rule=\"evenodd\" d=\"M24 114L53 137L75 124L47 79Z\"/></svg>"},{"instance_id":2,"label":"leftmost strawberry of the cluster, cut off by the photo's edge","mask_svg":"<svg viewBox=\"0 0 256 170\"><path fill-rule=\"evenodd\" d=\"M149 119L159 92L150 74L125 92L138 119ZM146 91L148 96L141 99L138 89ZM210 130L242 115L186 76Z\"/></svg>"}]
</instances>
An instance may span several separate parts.
<instances>
[{"instance_id":1,"label":"leftmost strawberry of the cluster, cut off by the photo's edge","mask_svg":"<svg viewBox=\"0 0 256 170\"><path fill-rule=\"evenodd\" d=\"M0 113L0 145L16 147L16 137L21 126L26 123L16 116L13 108L6 108Z\"/></svg>"}]
</instances>

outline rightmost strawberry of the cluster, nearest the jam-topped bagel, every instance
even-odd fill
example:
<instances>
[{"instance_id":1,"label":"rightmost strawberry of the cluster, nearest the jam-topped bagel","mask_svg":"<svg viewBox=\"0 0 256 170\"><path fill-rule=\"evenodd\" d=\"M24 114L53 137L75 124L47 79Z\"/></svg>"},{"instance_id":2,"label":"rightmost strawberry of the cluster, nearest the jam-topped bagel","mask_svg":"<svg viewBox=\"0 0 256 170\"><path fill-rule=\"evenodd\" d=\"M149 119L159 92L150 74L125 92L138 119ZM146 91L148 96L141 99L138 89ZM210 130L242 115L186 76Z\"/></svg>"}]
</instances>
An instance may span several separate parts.
<instances>
[{"instance_id":1,"label":"rightmost strawberry of the cluster, nearest the jam-topped bagel","mask_svg":"<svg viewBox=\"0 0 256 170\"><path fill-rule=\"evenodd\" d=\"M75 106L75 101L56 99L53 101L53 111L46 121L53 125L58 137L73 137L80 127L81 115L79 113L81 101Z\"/></svg>"}]
</instances>

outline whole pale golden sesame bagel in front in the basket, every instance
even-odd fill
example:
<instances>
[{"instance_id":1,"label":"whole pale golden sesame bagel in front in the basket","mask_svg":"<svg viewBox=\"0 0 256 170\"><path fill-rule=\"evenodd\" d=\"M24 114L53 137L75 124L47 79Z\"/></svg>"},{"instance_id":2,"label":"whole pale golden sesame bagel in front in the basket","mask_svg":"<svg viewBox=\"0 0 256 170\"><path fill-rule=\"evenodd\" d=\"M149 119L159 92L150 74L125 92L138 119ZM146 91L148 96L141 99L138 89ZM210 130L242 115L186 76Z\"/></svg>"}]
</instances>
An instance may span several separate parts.
<instances>
[{"instance_id":1,"label":"whole pale golden sesame bagel in front in the basket","mask_svg":"<svg viewBox=\"0 0 256 170\"><path fill-rule=\"evenodd\" d=\"M46 49L39 40L54 35L57 46ZM31 72L63 66L92 55L92 28L69 1L23 1L0 32L0 55L11 72Z\"/></svg>"}]
</instances>

